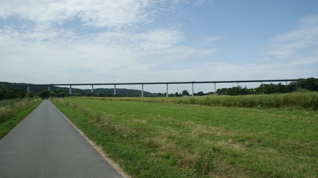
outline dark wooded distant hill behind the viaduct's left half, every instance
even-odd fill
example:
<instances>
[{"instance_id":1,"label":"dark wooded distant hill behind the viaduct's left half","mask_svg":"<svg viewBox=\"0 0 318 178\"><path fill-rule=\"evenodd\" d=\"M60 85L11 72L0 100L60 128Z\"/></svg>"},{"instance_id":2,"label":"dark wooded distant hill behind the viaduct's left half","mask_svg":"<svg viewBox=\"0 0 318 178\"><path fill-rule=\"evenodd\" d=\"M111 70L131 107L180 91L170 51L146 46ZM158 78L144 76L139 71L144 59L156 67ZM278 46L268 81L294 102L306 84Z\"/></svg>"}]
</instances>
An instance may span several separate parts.
<instances>
[{"instance_id":1,"label":"dark wooded distant hill behind the viaduct's left half","mask_svg":"<svg viewBox=\"0 0 318 178\"><path fill-rule=\"evenodd\" d=\"M11 83L11 82L0 82L3 85L7 84L31 84L31 83ZM22 91L26 92L27 86L16 86L22 89ZM30 91L33 91L34 93L39 93L43 89L48 89L48 86L30 86ZM69 87L56 87L56 86L51 86L50 89L66 89L66 91L70 91ZM72 94L76 93L87 93L91 92L91 89L76 89L72 87ZM114 89L104 89L104 88L97 88L94 89L94 93L111 93L114 94ZM141 96L141 90L138 89L118 89L116 88L116 93L120 95L136 95L136 96ZM156 93L150 93L148 91L143 91L143 95L152 95L152 96L157 96Z\"/></svg>"}]
</instances>

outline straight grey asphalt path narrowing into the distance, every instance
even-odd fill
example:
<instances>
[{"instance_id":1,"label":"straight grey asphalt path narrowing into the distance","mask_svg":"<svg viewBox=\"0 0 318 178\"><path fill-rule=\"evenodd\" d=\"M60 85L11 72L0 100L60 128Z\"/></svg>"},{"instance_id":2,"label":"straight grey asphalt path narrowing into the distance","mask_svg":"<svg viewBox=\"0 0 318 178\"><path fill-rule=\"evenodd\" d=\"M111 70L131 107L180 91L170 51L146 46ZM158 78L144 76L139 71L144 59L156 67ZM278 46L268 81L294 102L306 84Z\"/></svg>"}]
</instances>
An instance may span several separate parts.
<instances>
[{"instance_id":1,"label":"straight grey asphalt path narrowing into the distance","mask_svg":"<svg viewBox=\"0 0 318 178\"><path fill-rule=\"evenodd\" d=\"M122 178L49 100L0 140L0 177Z\"/></svg>"}]
</instances>

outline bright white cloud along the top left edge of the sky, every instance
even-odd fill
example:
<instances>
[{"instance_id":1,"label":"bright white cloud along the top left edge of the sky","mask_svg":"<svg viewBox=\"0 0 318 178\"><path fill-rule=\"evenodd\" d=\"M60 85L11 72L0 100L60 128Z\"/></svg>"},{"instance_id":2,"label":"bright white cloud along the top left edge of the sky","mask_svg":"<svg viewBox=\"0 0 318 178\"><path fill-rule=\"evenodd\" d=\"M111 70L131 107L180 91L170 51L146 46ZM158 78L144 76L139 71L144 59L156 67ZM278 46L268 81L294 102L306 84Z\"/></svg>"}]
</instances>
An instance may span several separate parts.
<instances>
[{"instance_id":1,"label":"bright white cloud along the top left edge of the sky","mask_svg":"<svg viewBox=\"0 0 318 178\"><path fill-rule=\"evenodd\" d=\"M149 23L151 2L147 0L2 0L0 17L17 16L37 24L64 23L79 18L85 26L122 27L136 23Z\"/></svg>"}]
</instances>

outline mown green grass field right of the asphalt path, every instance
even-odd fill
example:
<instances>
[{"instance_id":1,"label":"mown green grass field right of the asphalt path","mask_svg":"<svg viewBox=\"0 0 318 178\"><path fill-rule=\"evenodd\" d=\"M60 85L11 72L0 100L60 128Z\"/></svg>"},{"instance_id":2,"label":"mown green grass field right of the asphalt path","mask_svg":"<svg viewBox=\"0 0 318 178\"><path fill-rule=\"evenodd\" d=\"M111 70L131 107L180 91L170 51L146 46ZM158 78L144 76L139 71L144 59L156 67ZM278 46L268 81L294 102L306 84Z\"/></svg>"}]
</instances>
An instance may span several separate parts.
<instances>
[{"instance_id":1,"label":"mown green grass field right of the asphalt path","mask_svg":"<svg viewBox=\"0 0 318 178\"><path fill-rule=\"evenodd\" d=\"M317 111L52 102L132 177L318 176Z\"/></svg>"}]
</instances>

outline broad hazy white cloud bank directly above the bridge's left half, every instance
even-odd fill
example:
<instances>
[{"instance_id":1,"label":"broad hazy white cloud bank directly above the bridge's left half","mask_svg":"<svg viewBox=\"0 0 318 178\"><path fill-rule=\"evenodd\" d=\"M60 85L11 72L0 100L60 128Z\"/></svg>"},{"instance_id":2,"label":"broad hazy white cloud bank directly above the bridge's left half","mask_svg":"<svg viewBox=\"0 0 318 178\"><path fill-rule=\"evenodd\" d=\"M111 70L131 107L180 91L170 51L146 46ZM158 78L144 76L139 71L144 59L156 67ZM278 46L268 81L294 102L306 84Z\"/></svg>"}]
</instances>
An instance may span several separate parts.
<instances>
[{"instance_id":1,"label":"broad hazy white cloud bank directly above the bridge's left half","mask_svg":"<svg viewBox=\"0 0 318 178\"><path fill-rule=\"evenodd\" d=\"M20 75L33 75L30 77L33 83L50 77L59 82L82 82L91 80L92 75L96 82L105 79L112 82L139 82L147 80L142 79L142 76L160 67L164 71L165 65L215 52L215 49L178 45L178 42L185 40L182 33L167 29L79 35L70 30L53 28L21 32L5 27L0 40L0 53L4 54L1 62L6 66L0 80L16 81L11 76L15 73L12 69L18 67ZM19 78L26 80L24 77Z\"/></svg>"}]
</instances>

